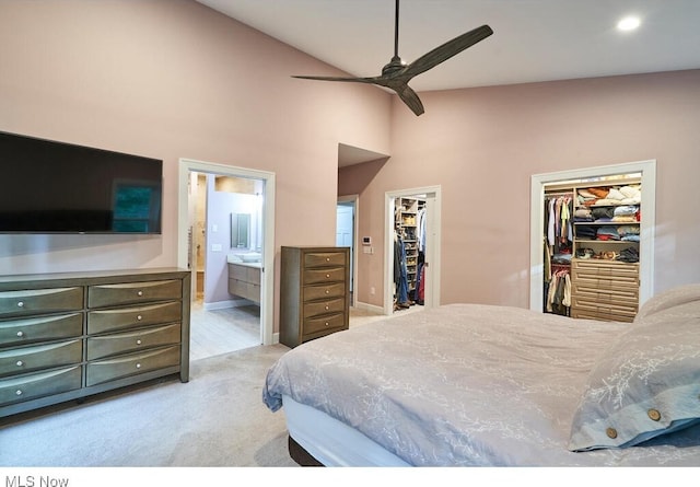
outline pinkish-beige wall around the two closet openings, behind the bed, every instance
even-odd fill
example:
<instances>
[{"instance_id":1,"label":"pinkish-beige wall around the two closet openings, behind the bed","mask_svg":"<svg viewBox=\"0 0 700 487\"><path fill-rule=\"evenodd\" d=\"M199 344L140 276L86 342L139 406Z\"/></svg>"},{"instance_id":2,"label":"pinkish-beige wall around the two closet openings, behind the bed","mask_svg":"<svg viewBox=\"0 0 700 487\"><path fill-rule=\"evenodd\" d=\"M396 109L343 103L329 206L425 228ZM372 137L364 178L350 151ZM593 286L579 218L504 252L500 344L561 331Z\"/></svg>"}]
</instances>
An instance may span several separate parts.
<instances>
[{"instance_id":1,"label":"pinkish-beige wall around the two closet openings, behind the bed","mask_svg":"<svg viewBox=\"0 0 700 487\"><path fill-rule=\"evenodd\" d=\"M392 158L341 170L339 190L360 194L360 233L383 248L384 194L441 185L443 303L528 306L533 174L650 159L654 290L700 281L700 70L421 98L421 117L394 105ZM358 300L381 305L383 255L358 257Z\"/></svg>"}]
</instances>

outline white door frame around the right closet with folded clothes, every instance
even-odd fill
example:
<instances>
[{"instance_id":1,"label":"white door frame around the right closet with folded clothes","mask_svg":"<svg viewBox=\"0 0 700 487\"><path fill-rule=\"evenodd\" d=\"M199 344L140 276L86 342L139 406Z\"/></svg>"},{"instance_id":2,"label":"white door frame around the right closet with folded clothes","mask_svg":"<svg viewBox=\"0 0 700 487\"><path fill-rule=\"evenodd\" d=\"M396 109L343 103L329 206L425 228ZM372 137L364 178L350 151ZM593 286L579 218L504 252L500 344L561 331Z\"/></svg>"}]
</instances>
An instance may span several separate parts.
<instances>
[{"instance_id":1,"label":"white door frame around the right closet with folded clothes","mask_svg":"<svg viewBox=\"0 0 700 487\"><path fill-rule=\"evenodd\" d=\"M654 229L656 221L656 160L535 174L530 178L530 255L529 255L529 309L542 311L544 253L542 232L545 222L545 186L552 183L585 179L616 174L642 174L642 220L640 222L640 306L654 294Z\"/></svg>"}]
</instances>

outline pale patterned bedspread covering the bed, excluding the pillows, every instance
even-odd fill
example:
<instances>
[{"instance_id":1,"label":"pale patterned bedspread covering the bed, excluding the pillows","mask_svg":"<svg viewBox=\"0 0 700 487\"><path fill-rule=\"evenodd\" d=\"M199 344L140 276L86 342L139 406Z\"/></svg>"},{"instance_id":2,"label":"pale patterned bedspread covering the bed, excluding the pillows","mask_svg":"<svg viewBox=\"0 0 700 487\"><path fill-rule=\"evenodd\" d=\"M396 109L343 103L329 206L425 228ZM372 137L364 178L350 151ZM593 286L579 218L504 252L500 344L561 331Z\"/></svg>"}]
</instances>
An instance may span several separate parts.
<instances>
[{"instance_id":1,"label":"pale patterned bedspread covering the bed, excluding the pillows","mask_svg":"<svg viewBox=\"0 0 700 487\"><path fill-rule=\"evenodd\" d=\"M281 396L411 465L700 465L700 427L643 445L567 449L596 356L631 324L450 304L306 343L269 371Z\"/></svg>"}]
</instances>

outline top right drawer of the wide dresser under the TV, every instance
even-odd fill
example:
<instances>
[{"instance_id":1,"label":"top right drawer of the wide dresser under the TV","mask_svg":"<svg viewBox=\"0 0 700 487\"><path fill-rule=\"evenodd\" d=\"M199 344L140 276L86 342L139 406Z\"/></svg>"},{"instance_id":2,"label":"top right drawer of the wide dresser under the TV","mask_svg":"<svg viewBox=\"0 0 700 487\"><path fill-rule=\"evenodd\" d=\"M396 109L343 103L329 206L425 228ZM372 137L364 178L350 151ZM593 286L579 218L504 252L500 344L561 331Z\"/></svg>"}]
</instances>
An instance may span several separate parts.
<instances>
[{"instance_id":1,"label":"top right drawer of the wide dresser under the TV","mask_svg":"<svg viewBox=\"0 0 700 487\"><path fill-rule=\"evenodd\" d=\"M120 304L165 301L179 299L182 293L183 290L179 280L90 286L88 289L88 306L107 308Z\"/></svg>"}]
</instances>

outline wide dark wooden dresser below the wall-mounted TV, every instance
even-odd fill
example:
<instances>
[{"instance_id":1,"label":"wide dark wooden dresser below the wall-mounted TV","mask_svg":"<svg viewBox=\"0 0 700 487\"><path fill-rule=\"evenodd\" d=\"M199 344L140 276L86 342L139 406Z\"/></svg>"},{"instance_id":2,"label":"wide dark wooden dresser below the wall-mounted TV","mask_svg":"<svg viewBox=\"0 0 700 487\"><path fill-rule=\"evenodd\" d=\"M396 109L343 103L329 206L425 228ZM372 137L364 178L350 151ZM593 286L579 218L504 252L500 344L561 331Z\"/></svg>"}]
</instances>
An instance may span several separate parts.
<instances>
[{"instance_id":1,"label":"wide dark wooden dresser below the wall-mounted TV","mask_svg":"<svg viewBox=\"0 0 700 487\"><path fill-rule=\"evenodd\" d=\"M0 278L0 417L178 374L189 380L182 269Z\"/></svg>"}]
</instances>

